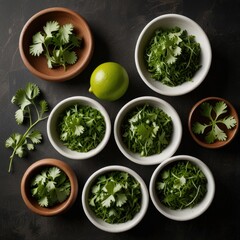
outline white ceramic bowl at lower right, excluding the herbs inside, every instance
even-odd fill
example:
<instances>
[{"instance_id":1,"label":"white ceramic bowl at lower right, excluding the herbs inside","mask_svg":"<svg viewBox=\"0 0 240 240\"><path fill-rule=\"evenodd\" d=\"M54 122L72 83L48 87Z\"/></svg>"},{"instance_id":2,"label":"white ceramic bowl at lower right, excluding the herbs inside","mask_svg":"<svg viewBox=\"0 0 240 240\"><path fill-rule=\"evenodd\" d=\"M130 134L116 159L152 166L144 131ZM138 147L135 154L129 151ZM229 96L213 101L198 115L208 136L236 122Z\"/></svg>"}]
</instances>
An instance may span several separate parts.
<instances>
[{"instance_id":1,"label":"white ceramic bowl at lower right, excluding the herbs inside","mask_svg":"<svg viewBox=\"0 0 240 240\"><path fill-rule=\"evenodd\" d=\"M198 166L202 170L202 172L204 173L204 175L206 176L207 181L208 181L207 193L206 193L204 199L200 203L195 205L193 208L172 210L172 209L164 206L160 202L160 200L157 196L157 193L156 193L155 184L156 184L156 180L158 178L159 173L162 171L162 169L164 167L166 167L168 164L170 164L172 162L181 161L181 160L189 161L189 162L195 164L196 166ZM215 181L214 181L213 175L212 175L210 169L208 168L208 166L205 163L203 163L200 159L192 157L192 156L188 156L188 155L179 155L179 156L174 156L169 159L166 159L155 169L155 171L152 174L151 180L150 180L149 193L150 193L150 197L151 197L151 200L152 200L154 206L165 217L170 218L172 220L177 220L177 221L187 221L187 220L191 220L191 219L194 219L194 218L200 216L208 209L208 207L210 206L210 204L212 203L212 200L214 198Z\"/></svg>"}]
</instances>

